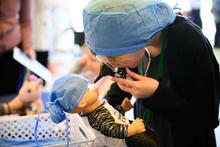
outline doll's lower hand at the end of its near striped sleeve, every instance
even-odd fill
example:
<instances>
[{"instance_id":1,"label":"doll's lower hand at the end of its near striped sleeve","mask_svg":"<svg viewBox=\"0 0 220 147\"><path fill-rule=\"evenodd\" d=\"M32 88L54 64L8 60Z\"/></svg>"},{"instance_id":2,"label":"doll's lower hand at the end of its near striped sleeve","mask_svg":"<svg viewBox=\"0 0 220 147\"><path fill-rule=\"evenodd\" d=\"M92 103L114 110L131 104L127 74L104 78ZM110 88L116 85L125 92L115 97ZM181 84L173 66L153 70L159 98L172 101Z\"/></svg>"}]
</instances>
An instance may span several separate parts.
<instances>
[{"instance_id":1,"label":"doll's lower hand at the end of its near striped sleeve","mask_svg":"<svg viewBox=\"0 0 220 147\"><path fill-rule=\"evenodd\" d=\"M137 133L142 133L145 131L144 122L140 118L136 118L132 124L128 125L128 136L132 136Z\"/></svg>"}]
</instances>

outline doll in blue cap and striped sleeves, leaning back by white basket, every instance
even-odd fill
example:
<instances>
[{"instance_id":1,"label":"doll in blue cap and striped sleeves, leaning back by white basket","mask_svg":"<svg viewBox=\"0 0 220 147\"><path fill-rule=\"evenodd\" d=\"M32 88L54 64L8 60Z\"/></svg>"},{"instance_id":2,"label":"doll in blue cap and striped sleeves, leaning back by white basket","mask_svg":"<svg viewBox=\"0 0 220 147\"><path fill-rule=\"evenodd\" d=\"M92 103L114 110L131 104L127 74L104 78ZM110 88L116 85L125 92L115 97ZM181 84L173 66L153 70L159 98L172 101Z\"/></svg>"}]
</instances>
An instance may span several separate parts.
<instances>
[{"instance_id":1,"label":"doll in blue cap and striped sleeves, leaning back by white basket","mask_svg":"<svg viewBox=\"0 0 220 147\"><path fill-rule=\"evenodd\" d=\"M148 128L145 130L142 119L137 118L130 123L123 116L132 107L127 98L120 106L113 108L100 99L98 89L89 87L88 80L80 75L67 74L57 79L49 99L46 108L55 123L65 119L65 112L79 113L87 116L92 128L105 136L125 139L128 146L158 146L152 132Z\"/></svg>"}]
</instances>

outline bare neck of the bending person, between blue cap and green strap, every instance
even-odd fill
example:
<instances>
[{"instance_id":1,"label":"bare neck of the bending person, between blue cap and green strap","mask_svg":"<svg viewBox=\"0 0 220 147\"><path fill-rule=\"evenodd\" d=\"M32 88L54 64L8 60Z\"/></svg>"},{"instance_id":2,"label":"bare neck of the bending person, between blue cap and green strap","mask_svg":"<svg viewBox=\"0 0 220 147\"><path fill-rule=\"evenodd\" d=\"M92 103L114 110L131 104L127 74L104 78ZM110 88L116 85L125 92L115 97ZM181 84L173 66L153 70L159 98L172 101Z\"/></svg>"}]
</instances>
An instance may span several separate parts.
<instances>
[{"instance_id":1,"label":"bare neck of the bending person, between blue cap and green strap","mask_svg":"<svg viewBox=\"0 0 220 147\"><path fill-rule=\"evenodd\" d=\"M152 41L147 46L150 54L155 57L160 54L162 46L162 32L158 32L153 38Z\"/></svg>"}]
</instances>

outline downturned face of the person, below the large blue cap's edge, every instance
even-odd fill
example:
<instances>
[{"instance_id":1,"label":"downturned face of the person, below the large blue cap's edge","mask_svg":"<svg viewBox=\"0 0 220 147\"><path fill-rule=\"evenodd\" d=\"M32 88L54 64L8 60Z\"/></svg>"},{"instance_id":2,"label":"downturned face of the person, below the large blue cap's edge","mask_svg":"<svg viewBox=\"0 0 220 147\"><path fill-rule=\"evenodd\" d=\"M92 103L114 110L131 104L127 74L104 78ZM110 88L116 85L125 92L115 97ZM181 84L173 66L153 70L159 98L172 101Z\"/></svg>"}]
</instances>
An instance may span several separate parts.
<instances>
[{"instance_id":1,"label":"downturned face of the person, below the large blue cap's edge","mask_svg":"<svg viewBox=\"0 0 220 147\"><path fill-rule=\"evenodd\" d=\"M129 68L134 68L137 67L138 64L140 63L140 60L144 56L145 49L140 49L136 52L124 54L124 55L118 55L118 56L113 56L113 57L106 57L106 56L99 56L96 55L96 57L106 63L107 65L112 66L113 68L115 67L129 67Z\"/></svg>"}]
</instances>

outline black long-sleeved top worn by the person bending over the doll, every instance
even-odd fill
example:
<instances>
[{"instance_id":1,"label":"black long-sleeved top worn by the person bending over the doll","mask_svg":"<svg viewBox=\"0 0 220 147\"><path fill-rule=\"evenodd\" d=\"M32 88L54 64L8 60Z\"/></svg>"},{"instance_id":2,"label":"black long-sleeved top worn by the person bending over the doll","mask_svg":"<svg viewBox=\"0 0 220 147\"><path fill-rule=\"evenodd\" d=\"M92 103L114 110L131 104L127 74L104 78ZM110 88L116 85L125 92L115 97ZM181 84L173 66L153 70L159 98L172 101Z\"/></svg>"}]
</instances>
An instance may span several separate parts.
<instances>
[{"instance_id":1,"label":"black long-sleeved top worn by the person bending over the doll","mask_svg":"<svg viewBox=\"0 0 220 147\"><path fill-rule=\"evenodd\" d=\"M142 101L153 112L150 127L161 147L215 146L220 78L212 47L197 26L180 16L166 35L163 79L154 95ZM156 58L148 76L158 79ZM113 84L105 98L115 106L126 96L131 95Z\"/></svg>"}]
</instances>

